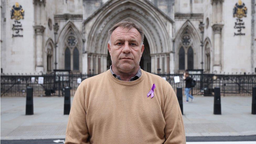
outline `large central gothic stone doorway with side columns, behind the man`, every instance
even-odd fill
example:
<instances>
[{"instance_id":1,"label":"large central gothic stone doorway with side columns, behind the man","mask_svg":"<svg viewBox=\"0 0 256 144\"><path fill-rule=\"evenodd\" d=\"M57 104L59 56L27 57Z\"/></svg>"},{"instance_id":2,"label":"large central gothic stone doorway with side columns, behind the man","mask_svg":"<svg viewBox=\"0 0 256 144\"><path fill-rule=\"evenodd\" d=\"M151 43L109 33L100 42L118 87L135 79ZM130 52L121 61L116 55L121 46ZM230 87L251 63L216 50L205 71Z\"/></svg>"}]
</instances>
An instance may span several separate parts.
<instances>
[{"instance_id":1,"label":"large central gothic stone doorway with side columns, behind the man","mask_svg":"<svg viewBox=\"0 0 256 144\"><path fill-rule=\"evenodd\" d=\"M157 73L157 69L161 69L161 73L169 73L170 62L174 61L170 61L170 56L174 55L171 53L171 31L174 21L149 1L111 0L108 2L83 22L84 50L87 52L83 58L88 62L86 65L88 67L84 71L94 67L97 69L97 65L100 65L99 62L91 62L92 56L99 57L103 63L99 72L109 69L111 60L106 47L108 30L118 22L130 21L140 25L147 36L149 46L146 48L148 51L142 56L141 68L151 73ZM174 72L174 65L172 67Z\"/></svg>"}]
</instances>

